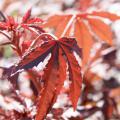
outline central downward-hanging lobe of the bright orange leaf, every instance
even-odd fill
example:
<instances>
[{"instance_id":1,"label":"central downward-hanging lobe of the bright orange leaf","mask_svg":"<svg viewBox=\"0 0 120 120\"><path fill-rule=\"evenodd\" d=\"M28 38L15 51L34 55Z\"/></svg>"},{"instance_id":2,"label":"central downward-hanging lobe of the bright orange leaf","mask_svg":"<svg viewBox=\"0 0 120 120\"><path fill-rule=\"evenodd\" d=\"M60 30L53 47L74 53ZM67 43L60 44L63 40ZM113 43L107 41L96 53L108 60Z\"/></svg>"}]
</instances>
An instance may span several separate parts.
<instances>
[{"instance_id":1,"label":"central downward-hanging lobe of the bright orange leaf","mask_svg":"<svg viewBox=\"0 0 120 120\"><path fill-rule=\"evenodd\" d=\"M93 46L93 38L89 32L89 29L87 25L81 21L77 20L75 24L75 36L76 39L78 39L78 45L83 48L83 67L87 62L89 61L90 58L90 50ZM80 29L77 29L79 27Z\"/></svg>"}]
</instances>

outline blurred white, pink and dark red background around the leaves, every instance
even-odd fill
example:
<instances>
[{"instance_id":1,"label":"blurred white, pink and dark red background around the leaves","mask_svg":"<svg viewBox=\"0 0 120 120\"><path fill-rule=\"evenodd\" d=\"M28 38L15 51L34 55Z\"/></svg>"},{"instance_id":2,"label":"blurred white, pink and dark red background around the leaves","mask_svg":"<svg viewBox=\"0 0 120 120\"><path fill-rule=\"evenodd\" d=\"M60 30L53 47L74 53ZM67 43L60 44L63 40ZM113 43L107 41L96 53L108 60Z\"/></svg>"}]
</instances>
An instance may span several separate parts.
<instances>
[{"instance_id":1,"label":"blurred white, pink and dark red background around the leaves","mask_svg":"<svg viewBox=\"0 0 120 120\"><path fill-rule=\"evenodd\" d=\"M120 0L0 0L0 10L5 16L21 18L32 8L32 16L43 20L55 13L80 13L107 11L120 15ZM0 18L1 19L1 18ZM109 23L109 21L105 21ZM114 47L103 45L100 55L83 79L83 92L76 111L73 111L67 97L67 83L47 115L47 120L120 120L120 20L110 24L114 32ZM5 41L0 34L0 44ZM99 47L99 45L98 45ZM10 45L0 46L0 116L2 109L23 111L16 93L8 80L2 79L4 67L10 67L20 58ZM22 72L18 79L21 99L29 110L34 111L35 95L30 76ZM8 113L7 113L8 114ZM5 120L0 117L0 120ZM24 120L24 119L22 119Z\"/></svg>"}]
</instances>

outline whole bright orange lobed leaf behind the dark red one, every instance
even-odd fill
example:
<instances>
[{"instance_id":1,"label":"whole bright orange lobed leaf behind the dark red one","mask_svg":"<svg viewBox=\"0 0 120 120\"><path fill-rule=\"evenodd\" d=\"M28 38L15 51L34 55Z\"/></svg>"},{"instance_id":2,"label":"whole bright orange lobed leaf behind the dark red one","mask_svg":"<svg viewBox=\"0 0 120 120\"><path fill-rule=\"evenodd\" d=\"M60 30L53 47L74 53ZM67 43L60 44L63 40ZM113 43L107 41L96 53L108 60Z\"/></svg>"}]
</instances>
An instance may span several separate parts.
<instances>
[{"instance_id":1,"label":"whole bright orange lobed leaf behind the dark red one","mask_svg":"<svg viewBox=\"0 0 120 120\"><path fill-rule=\"evenodd\" d=\"M109 12L92 12L78 14L56 14L50 16L43 27L53 28L59 37L76 37L78 45L83 48L83 66L90 60L90 50L96 38L109 45L113 45L113 33L109 25L102 19L112 22L120 16Z\"/></svg>"}]
</instances>

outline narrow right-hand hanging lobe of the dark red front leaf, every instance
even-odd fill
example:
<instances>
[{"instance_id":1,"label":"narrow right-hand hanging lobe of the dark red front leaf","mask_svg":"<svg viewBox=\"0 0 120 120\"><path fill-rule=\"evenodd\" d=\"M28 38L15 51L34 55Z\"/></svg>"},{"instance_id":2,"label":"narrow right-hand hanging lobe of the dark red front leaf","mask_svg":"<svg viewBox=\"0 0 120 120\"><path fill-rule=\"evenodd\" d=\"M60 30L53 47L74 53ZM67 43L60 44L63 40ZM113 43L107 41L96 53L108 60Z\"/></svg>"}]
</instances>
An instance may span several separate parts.
<instances>
[{"instance_id":1,"label":"narrow right-hand hanging lobe of the dark red front leaf","mask_svg":"<svg viewBox=\"0 0 120 120\"><path fill-rule=\"evenodd\" d=\"M81 86L82 76L80 73L81 69L73 53L64 46L62 46L62 48L63 48L63 51L65 52L65 55L68 61L69 79L71 81L70 99L72 101L72 105L74 109L76 109L77 102L81 94L81 87L82 87Z\"/></svg>"}]
</instances>

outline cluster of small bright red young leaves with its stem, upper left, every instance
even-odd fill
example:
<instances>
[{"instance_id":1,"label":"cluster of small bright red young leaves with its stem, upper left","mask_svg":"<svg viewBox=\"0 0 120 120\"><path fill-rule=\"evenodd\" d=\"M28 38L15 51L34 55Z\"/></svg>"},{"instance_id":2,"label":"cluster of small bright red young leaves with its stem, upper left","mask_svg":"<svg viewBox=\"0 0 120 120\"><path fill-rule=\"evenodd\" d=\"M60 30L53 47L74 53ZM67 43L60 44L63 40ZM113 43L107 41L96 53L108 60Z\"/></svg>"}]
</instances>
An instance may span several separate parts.
<instances>
[{"instance_id":1,"label":"cluster of small bright red young leaves with its stem, upper left","mask_svg":"<svg viewBox=\"0 0 120 120\"><path fill-rule=\"evenodd\" d=\"M2 12L0 12L0 15L4 16ZM38 23L42 23L42 20L40 18L31 17L31 9L27 11L20 22L16 21L14 17L11 16L4 16L4 19L5 20L0 21L0 33L7 37L9 41L4 42L1 45L11 44L13 50L16 51L19 56L22 56L30 43L32 43L32 40L27 40L28 31L31 32L29 39L32 37L35 38L36 35L45 32L38 25ZM21 38L24 38L25 40L22 40Z\"/></svg>"}]
</instances>

